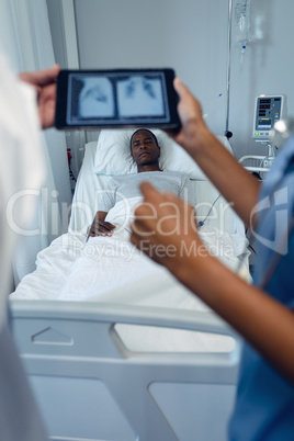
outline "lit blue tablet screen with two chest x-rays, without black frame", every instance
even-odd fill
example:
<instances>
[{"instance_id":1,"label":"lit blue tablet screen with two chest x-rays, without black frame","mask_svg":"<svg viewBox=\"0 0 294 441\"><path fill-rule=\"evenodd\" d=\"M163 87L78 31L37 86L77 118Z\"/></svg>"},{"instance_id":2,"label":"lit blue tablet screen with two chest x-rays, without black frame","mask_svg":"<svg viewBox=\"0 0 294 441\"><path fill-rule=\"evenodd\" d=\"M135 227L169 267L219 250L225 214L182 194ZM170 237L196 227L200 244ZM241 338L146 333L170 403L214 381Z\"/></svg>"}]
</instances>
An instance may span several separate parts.
<instances>
[{"instance_id":1,"label":"lit blue tablet screen with two chest x-rays, without black frame","mask_svg":"<svg viewBox=\"0 0 294 441\"><path fill-rule=\"evenodd\" d=\"M70 72L67 125L170 122L163 71Z\"/></svg>"}]
</instances>

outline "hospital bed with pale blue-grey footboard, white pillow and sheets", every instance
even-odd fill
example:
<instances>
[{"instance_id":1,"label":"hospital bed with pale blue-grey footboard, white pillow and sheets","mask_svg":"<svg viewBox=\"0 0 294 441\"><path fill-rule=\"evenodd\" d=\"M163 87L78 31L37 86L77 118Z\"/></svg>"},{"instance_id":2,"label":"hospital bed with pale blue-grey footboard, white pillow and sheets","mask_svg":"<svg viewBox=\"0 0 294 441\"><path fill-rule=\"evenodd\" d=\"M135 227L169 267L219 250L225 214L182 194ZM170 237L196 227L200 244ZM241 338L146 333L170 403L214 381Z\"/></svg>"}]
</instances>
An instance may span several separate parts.
<instances>
[{"instance_id":1,"label":"hospital bed with pale blue-grey footboard, white pillow and sheets","mask_svg":"<svg viewBox=\"0 0 294 441\"><path fill-rule=\"evenodd\" d=\"M70 238L65 235L42 252L36 272L11 296L19 352L50 440L222 441L236 392L238 336L161 267L121 284L109 279L101 292L101 279L87 291L90 272L77 279L76 260L99 208L100 189L109 182L109 165L122 174L117 145L128 136L103 131L99 143L86 146ZM162 146L166 135L157 136ZM217 231L217 242L222 238L224 247L233 247L234 257L225 257L225 263L247 276L240 219L173 142L168 148L161 147L165 168L172 169L172 162L190 174L199 219ZM129 161L125 167L132 171ZM82 259L89 261L89 255ZM97 263L101 259L91 271ZM60 283L66 285L61 294L56 293Z\"/></svg>"}]
</instances>

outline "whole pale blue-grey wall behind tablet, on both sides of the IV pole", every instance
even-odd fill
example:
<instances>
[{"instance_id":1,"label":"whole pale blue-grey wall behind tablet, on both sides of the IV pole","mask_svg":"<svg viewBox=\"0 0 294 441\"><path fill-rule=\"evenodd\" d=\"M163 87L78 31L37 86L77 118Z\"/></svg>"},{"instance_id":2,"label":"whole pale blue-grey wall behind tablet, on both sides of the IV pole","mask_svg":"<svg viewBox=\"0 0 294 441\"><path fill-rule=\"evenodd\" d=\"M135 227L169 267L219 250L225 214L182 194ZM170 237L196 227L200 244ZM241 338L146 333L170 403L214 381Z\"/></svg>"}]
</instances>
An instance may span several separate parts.
<instances>
[{"instance_id":1,"label":"whole pale blue-grey wall behind tablet, on both sides of the IV pole","mask_svg":"<svg viewBox=\"0 0 294 441\"><path fill-rule=\"evenodd\" d=\"M233 0L229 129L236 157L263 154L251 139L255 98L285 93L294 115L293 0L251 0L251 42L240 64ZM173 67L200 99L207 124L227 116L229 0L75 0L81 68Z\"/></svg>"}]
</instances>

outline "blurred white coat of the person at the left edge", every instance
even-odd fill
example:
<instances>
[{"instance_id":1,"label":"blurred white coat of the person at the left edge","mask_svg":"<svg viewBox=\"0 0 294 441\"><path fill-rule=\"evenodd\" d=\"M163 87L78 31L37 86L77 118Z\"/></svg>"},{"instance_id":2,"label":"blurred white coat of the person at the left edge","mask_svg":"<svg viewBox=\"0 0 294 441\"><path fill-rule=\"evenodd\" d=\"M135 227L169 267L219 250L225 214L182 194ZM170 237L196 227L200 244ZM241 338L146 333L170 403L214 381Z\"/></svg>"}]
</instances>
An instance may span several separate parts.
<instances>
[{"instance_id":1,"label":"blurred white coat of the person at the left edge","mask_svg":"<svg viewBox=\"0 0 294 441\"><path fill-rule=\"evenodd\" d=\"M7 303L15 225L18 219L29 222L34 214L33 200L31 204L30 197L20 195L39 189L45 174L38 143L34 90L18 80L0 53L0 438L3 441L47 439L10 335Z\"/></svg>"}]
</instances>

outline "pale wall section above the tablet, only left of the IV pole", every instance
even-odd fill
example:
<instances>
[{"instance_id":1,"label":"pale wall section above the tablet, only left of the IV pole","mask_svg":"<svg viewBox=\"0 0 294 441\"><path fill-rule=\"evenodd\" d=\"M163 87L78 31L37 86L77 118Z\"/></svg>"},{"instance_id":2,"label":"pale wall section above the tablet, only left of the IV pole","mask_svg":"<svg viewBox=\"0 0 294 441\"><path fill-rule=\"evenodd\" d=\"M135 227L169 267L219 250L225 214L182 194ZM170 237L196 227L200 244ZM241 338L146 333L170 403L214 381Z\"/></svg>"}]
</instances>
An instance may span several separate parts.
<instances>
[{"instance_id":1,"label":"pale wall section above the tablet, only left of the IV pole","mask_svg":"<svg viewBox=\"0 0 294 441\"><path fill-rule=\"evenodd\" d=\"M227 0L75 4L81 68L172 67L200 98L211 128L224 133Z\"/></svg>"}]
</instances>

